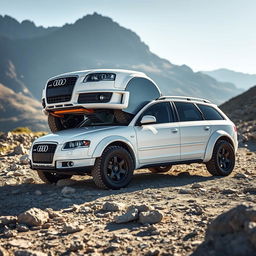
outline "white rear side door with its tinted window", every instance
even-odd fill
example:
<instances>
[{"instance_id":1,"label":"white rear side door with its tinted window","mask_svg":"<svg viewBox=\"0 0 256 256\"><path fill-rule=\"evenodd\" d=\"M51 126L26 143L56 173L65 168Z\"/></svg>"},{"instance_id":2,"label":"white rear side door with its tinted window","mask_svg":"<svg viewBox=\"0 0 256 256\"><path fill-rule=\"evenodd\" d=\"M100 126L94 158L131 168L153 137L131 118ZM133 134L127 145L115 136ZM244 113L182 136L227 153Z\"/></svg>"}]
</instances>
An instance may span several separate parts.
<instances>
[{"instance_id":1,"label":"white rear side door with its tinted window","mask_svg":"<svg viewBox=\"0 0 256 256\"><path fill-rule=\"evenodd\" d=\"M211 127L194 103L175 102L180 120L181 160L203 159Z\"/></svg>"}]
</instances>

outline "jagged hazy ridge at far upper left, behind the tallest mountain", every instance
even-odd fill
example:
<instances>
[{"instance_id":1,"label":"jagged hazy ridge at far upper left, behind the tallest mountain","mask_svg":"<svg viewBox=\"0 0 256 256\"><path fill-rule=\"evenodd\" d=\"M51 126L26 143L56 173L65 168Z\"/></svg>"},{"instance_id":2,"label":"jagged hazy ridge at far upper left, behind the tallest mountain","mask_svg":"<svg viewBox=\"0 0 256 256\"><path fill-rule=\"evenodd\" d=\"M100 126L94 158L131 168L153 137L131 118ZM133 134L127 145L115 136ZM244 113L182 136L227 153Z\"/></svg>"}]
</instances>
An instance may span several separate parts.
<instances>
[{"instance_id":1,"label":"jagged hazy ridge at far upper left, behind the tallest mountain","mask_svg":"<svg viewBox=\"0 0 256 256\"><path fill-rule=\"evenodd\" d=\"M11 39L45 36L57 29L57 27L37 27L29 20L19 23L16 19L8 15L0 15L0 34L3 37Z\"/></svg>"}]
</instances>

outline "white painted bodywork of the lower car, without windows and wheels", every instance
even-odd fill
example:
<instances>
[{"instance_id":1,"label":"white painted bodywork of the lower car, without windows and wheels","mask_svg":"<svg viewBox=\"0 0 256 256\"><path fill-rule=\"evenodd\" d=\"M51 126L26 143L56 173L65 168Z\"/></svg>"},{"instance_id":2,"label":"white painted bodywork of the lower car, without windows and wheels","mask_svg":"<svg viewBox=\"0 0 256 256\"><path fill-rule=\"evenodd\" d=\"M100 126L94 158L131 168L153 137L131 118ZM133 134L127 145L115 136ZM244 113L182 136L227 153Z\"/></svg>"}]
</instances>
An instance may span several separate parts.
<instances>
[{"instance_id":1,"label":"white painted bodywork of the lower car, without windows and wheels","mask_svg":"<svg viewBox=\"0 0 256 256\"><path fill-rule=\"evenodd\" d=\"M215 143L221 137L229 139L235 151L238 147L234 124L211 103L202 103L216 108L225 118L214 121L173 122L165 124L137 125L137 120L146 108L156 102L173 102L171 99L153 100L138 111L127 126L92 126L60 131L38 138L34 144L56 143L52 164L44 167L61 167L61 161L72 160L76 167L93 166L103 151L112 143L124 143L134 158L135 169L143 166L184 163L186 161L208 162ZM180 101L180 100L179 100ZM186 101L186 99L184 99ZM197 101L195 101L197 103ZM209 129L205 129L209 126ZM177 132L173 133L173 129ZM63 150L65 142L90 140L88 148ZM33 144L33 145L34 145ZM30 152L32 167L32 152ZM34 165L36 166L36 165ZM40 168L40 166L36 166ZM63 168L60 168L63 170Z\"/></svg>"}]
</instances>

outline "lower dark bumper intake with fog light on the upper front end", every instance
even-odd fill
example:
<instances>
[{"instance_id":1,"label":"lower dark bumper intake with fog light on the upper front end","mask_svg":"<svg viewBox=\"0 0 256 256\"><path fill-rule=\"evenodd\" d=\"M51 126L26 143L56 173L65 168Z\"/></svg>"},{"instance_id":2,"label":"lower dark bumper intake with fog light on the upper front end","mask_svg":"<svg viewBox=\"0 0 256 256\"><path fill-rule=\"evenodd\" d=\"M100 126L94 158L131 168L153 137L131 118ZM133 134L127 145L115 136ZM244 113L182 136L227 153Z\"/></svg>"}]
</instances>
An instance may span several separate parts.
<instances>
[{"instance_id":1,"label":"lower dark bumper intake with fog light on the upper front end","mask_svg":"<svg viewBox=\"0 0 256 256\"><path fill-rule=\"evenodd\" d=\"M112 92L99 93L81 93L78 97L78 103L106 103L112 97Z\"/></svg>"}]
</instances>

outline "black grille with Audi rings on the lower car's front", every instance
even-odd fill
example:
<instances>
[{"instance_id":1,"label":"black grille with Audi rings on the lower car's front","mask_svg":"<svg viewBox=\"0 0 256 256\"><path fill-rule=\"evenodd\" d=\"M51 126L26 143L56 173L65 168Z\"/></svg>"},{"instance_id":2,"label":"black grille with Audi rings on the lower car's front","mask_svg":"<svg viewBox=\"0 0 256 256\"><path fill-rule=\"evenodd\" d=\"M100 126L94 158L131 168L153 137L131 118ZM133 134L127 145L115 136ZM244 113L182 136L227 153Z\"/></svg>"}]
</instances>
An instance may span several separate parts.
<instances>
[{"instance_id":1,"label":"black grille with Audi rings on the lower car's front","mask_svg":"<svg viewBox=\"0 0 256 256\"><path fill-rule=\"evenodd\" d=\"M51 164L56 147L56 144L35 144L32 149L33 163Z\"/></svg>"}]
</instances>

